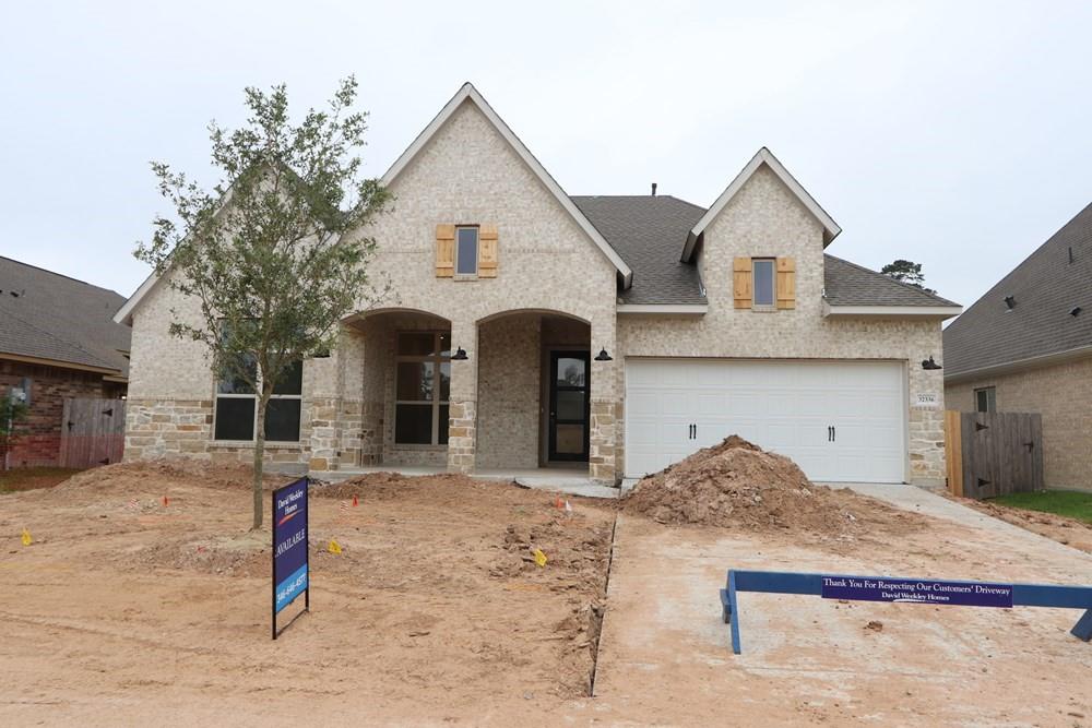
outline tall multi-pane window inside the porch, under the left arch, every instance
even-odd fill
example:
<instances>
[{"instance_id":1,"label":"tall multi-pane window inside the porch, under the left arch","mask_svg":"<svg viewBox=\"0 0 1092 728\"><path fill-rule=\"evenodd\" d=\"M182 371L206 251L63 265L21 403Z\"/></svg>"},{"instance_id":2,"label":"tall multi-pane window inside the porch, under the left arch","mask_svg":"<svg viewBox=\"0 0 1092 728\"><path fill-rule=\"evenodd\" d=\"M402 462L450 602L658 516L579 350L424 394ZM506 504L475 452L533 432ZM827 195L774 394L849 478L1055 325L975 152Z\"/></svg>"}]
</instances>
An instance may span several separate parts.
<instances>
[{"instance_id":1,"label":"tall multi-pane window inside the porch, under the left arch","mask_svg":"<svg viewBox=\"0 0 1092 728\"><path fill-rule=\"evenodd\" d=\"M395 444L448 444L451 334L401 332L395 368Z\"/></svg>"}]
</instances>

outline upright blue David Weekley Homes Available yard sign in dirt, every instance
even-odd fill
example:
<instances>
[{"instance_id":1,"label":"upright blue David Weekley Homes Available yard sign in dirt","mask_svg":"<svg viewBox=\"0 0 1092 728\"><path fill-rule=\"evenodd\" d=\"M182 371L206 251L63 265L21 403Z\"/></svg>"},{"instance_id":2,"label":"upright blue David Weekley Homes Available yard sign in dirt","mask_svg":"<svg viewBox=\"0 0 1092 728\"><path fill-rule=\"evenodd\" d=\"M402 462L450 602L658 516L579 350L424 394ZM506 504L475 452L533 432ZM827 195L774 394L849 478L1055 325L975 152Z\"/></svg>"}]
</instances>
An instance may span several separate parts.
<instances>
[{"instance_id":1,"label":"upright blue David Weekley Homes Available yard sign in dirt","mask_svg":"<svg viewBox=\"0 0 1092 728\"><path fill-rule=\"evenodd\" d=\"M276 616L304 595L302 614L311 610L308 584L307 478L273 491L273 639L284 630L276 629ZM296 621L292 618L292 622ZM285 624L284 629L288 629Z\"/></svg>"}]
</instances>

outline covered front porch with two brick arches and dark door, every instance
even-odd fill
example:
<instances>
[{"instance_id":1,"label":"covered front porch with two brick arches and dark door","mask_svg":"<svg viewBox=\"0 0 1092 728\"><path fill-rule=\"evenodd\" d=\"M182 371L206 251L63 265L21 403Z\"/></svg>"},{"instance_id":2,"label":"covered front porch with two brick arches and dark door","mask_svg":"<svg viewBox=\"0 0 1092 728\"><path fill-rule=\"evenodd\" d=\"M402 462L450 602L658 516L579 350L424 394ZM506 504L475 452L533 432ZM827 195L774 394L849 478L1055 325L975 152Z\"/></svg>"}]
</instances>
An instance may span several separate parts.
<instances>
[{"instance_id":1,"label":"covered front porch with two brick arches and dark door","mask_svg":"<svg viewBox=\"0 0 1092 728\"><path fill-rule=\"evenodd\" d=\"M339 473L613 481L603 456L614 404L593 401L592 382L614 370L596 360L589 322L515 310L460 323L388 309L348 321L347 338L343 391L360 422Z\"/></svg>"}]
</instances>

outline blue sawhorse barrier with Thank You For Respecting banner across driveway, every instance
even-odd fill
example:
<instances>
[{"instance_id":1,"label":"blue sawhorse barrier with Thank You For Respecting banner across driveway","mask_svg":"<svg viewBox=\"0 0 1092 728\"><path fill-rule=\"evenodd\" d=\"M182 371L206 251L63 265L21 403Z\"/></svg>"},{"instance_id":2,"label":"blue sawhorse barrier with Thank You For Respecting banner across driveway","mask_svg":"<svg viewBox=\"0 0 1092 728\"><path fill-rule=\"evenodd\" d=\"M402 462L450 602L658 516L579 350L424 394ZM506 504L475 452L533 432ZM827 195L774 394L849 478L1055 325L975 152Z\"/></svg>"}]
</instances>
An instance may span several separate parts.
<instances>
[{"instance_id":1,"label":"blue sawhorse barrier with Thank You For Respecting banner across driveway","mask_svg":"<svg viewBox=\"0 0 1092 728\"><path fill-rule=\"evenodd\" d=\"M964 607L1056 607L1082 609L1072 635L1092 640L1092 586L1064 584L996 584L951 582L900 576L856 576L850 574L802 574L787 571L728 570L728 583L721 589L721 614L732 626L732 652L740 654L739 592L802 594L824 599L901 601Z\"/></svg>"}]
</instances>

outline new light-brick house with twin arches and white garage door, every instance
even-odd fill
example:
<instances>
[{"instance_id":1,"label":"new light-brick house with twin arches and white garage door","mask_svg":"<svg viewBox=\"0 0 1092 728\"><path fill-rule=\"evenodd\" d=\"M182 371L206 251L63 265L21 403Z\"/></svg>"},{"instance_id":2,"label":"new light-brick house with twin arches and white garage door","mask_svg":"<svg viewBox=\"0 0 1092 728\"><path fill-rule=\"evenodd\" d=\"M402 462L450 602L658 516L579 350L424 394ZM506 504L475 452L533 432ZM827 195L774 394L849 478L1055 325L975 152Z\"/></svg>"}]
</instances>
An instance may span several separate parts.
<instances>
[{"instance_id":1,"label":"new light-brick house with twin arches and white garage door","mask_svg":"<svg viewBox=\"0 0 1092 728\"><path fill-rule=\"evenodd\" d=\"M824 254L841 231L767 150L704 210L569 196L466 84L383 176L393 296L274 399L273 462L312 470L578 464L638 477L737 432L816 479L941 482L951 301ZM127 456L249 458L253 395L167 333L150 278ZM919 403L924 403L918 406Z\"/></svg>"}]
</instances>

